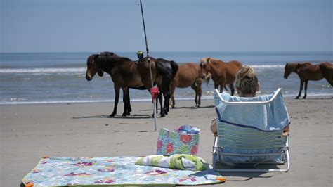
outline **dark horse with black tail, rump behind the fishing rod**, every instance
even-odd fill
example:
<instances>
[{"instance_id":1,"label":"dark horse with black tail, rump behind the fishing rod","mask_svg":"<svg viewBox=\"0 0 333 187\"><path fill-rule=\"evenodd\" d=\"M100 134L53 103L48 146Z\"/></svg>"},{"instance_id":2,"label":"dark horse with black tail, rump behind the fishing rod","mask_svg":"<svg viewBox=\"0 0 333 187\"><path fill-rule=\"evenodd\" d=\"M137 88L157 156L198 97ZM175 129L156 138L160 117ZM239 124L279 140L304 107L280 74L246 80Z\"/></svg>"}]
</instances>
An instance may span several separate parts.
<instances>
[{"instance_id":1,"label":"dark horse with black tail, rump behind the fishing rod","mask_svg":"<svg viewBox=\"0 0 333 187\"><path fill-rule=\"evenodd\" d=\"M155 80L159 91L161 91L164 96L164 106L162 107L161 105L161 113L166 115L169 112L169 102L171 97L169 85L178 71L178 65L172 60L169 61L163 58L155 59L150 57L150 64L148 63L148 58L138 60L138 72L140 72L141 80L148 91L152 87L150 67L152 79ZM161 97L162 95L159 94L159 98Z\"/></svg>"}]
</instances>

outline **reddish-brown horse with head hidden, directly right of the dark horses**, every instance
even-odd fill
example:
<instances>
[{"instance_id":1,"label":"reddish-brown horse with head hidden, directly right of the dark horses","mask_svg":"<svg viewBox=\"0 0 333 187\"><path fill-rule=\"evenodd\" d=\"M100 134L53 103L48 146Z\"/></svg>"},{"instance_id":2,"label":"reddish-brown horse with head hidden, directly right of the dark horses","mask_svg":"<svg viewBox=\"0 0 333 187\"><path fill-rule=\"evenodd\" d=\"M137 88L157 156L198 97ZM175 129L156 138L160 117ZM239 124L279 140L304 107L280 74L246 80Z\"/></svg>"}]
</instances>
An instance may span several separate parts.
<instances>
[{"instance_id":1,"label":"reddish-brown horse with head hidden, directly right of the dark horses","mask_svg":"<svg viewBox=\"0 0 333 187\"><path fill-rule=\"evenodd\" d=\"M196 63L185 63L179 65L178 72L170 84L171 93L171 108L175 108L174 91L177 88L191 88L195 91L195 107L200 107L201 104L201 84L202 74L200 65Z\"/></svg>"}]
</instances>

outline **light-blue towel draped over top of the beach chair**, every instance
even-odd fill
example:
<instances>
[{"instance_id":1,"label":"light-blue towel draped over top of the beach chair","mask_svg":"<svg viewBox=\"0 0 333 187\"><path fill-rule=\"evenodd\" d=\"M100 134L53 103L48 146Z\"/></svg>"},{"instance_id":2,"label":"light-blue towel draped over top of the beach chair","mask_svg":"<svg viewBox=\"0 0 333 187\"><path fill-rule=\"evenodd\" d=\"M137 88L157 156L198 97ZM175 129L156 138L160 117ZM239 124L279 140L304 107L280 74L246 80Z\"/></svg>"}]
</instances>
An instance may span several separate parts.
<instances>
[{"instance_id":1,"label":"light-blue towel draped over top of the beach chair","mask_svg":"<svg viewBox=\"0 0 333 187\"><path fill-rule=\"evenodd\" d=\"M268 101L273 94L266 96L256 96L253 98L242 98L230 96L229 93L221 94L225 101ZM220 122L228 124L253 127L261 131L280 131L287 127L290 122L282 93L278 93L275 100L267 105L225 105L221 101L216 103L216 112Z\"/></svg>"}]
</instances>

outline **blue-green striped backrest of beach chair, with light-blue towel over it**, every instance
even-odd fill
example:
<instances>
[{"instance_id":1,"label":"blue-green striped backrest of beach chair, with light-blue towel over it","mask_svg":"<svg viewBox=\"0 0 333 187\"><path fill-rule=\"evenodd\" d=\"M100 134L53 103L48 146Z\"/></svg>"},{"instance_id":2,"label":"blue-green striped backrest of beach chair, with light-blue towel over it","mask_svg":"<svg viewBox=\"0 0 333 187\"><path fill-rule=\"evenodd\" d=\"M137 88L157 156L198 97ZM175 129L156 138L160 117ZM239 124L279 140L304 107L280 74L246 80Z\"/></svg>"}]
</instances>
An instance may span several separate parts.
<instances>
[{"instance_id":1,"label":"blue-green striped backrest of beach chair, with light-blue towel over it","mask_svg":"<svg viewBox=\"0 0 333 187\"><path fill-rule=\"evenodd\" d=\"M218 96L220 93L217 90L215 92L214 101L217 114L218 147L246 150L284 147L282 127L289 124L289 115L285 115L285 113L287 114L287 109L283 102L282 104L275 102L275 98L282 98L282 95L278 96L281 94L280 89L278 89L277 93L267 96L266 101L253 101L255 100L253 98L251 99L252 101L237 102L237 105L233 105L235 102L223 101L221 95ZM253 102L256 105L254 107L252 105ZM233 105L233 107L229 107L228 105ZM232 110L231 113L228 111L229 109ZM226 115L223 115L221 110ZM263 111L265 115L256 114L256 111ZM282 112L282 115L277 114L280 112ZM261 117L273 119L260 119ZM247 122L247 118L251 119ZM273 127L270 127L270 124L263 124L267 122L275 124L273 124ZM259 124L256 125L256 123ZM277 128L278 125L281 128ZM263 129L263 126L266 129Z\"/></svg>"}]
</instances>

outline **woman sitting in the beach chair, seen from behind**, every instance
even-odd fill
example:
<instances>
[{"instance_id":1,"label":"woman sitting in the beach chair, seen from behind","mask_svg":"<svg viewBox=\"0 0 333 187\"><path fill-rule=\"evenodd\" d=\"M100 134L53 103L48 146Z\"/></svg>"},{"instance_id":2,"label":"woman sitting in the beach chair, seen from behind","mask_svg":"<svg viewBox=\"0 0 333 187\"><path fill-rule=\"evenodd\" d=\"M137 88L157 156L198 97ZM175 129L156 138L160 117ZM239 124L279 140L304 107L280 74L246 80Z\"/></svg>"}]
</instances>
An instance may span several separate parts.
<instances>
[{"instance_id":1,"label":"woman sitting in the beach chair, seen from behind","mask_svg":"<svg viewBox=\"0 0 333 187\"><path fill-rule=\"evenodd\" d=\"M256 97L256 92L259 91L259 82L254 70L244 65L236 76L236 91L240 97ZM289 125L283 129L284 132L289 131ZM217 136L216 119L211 122L211 132L214 137Z\"/></svg>"}]
</instances>

